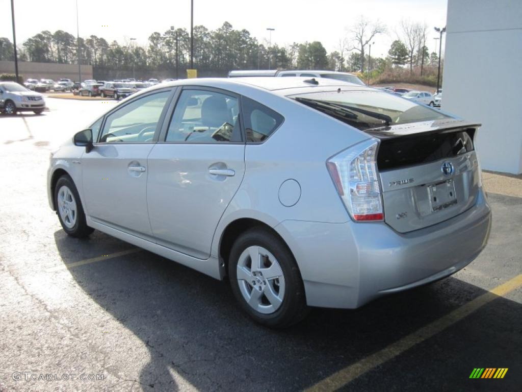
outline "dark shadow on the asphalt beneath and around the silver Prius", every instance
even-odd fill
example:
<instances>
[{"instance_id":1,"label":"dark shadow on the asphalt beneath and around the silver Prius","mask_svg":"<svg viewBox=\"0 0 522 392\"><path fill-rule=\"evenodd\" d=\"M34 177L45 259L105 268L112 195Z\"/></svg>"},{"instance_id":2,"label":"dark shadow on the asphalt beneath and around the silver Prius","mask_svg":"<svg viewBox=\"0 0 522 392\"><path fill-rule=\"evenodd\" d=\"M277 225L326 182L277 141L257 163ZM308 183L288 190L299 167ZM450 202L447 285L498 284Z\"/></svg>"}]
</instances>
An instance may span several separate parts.
<instances>
[{"instance_id":1,"label":"dark shadow on the asphalt beneath and around the silver Prius","mask_svg":"<svg viewBox=\"0 0 522 392\"><path fill-rule=\"evenodd\" d=\"M98 232L84 241L62 230L54 236L65 264L98 246L98 253L108 245L131 247ZM447 278L357 310L314 309L301 324L275 331L243 316L228 282L147 251L69 272L93 301L146 344L151 360L137 380L145 390L179 389L171 371L205 391L301 390L485 292ZM499 297L346 389L511 390L522 383L515 368L522 363L521 326L521 305ZM503 380L470 380L473 367L511 370Z\"/></svg>"}]
</instances>

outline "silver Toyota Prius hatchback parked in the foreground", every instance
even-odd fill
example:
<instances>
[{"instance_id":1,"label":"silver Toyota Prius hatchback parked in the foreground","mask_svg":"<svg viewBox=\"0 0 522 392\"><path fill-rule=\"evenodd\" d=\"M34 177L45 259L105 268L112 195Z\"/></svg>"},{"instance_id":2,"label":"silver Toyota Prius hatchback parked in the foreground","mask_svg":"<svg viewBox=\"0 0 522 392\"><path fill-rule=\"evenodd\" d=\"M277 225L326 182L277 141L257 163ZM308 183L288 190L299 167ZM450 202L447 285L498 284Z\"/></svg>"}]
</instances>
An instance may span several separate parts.
<instances>
[{"instance_id":1,"label":"silver Toyota Prius hatchback parked in the foreground","mask_svg":"<svg viewBox=\"0 0 522 392\"><path fill-rule=\"evenodd\" d=\"M186 79L123 100L50 159L65 232L216 279L285 327L455 273L487 243L480 124L325 78Z\"/></svg>"}]
</instances>

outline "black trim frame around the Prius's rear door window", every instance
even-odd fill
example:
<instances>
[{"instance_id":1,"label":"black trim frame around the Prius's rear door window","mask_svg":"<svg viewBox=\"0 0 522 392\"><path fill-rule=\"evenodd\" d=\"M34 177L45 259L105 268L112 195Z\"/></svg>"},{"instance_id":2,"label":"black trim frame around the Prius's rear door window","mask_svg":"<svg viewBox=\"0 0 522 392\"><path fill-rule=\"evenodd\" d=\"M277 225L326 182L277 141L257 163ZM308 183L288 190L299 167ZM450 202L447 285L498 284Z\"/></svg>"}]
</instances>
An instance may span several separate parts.
<instances>
[{"instance_id":1,"label":"black trim frame around the Prius's rear door window","mask_svg":"<svg viewBox=\"0 0 522 392\"><path fill-rule=\"evenodd\" d=\"M180 97L181 97L181 94L183 93L183 91L185 90L198 90L198 91L209 91L209 92L212 92L212 93L219 93L219 94L223 94L223 95L228 95L228 96L231 96L231 97L234 97L236 99L238 99L238 105L239 105L239 126L240 126L240 135L241 135L241 139L242 141L241 142L171 142L171 141L166 141L167 139L167 132L169 130L169 126L170 126L170 122L172 120L172 116L174 114L174 110L176 109L177 107L177 102L179 101ZM159 138L158 138L158 144L186 144L186 145L198 145L198 144L201 144L201 145L205 145L205 144L210 144L210 145L233 145L233 144L239 144L239 145L245 145L246 144L246 135L245 135L245 129L244 129L244 126L243 126L243 108L241 106L241 95L238 94L238 93L234 93L233 91L230 91L230 90L225 90L225 89L222 89L222 88L216 88L216 87L208 87L208 86L197 86L197 85L189 85L189 86L183 86L181 88L178 88L177 91L176 91L176 94L175 94L175 97L172 99L171 101L171 105L169 107L169 110L167 112L167 115L165 116L165 119L164 119L164 122L163 122L163 126L161 128L161 132L159 134Z\"/></svg>"}]
</instances>

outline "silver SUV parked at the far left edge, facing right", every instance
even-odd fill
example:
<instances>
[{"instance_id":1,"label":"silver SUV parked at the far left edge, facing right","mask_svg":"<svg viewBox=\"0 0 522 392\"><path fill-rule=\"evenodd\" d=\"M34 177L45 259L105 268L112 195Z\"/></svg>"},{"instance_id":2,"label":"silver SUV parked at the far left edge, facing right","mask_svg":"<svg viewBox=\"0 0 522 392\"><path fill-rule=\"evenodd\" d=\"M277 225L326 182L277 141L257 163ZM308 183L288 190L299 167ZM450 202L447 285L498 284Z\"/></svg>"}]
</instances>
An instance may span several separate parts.
<instances>
[{"instance_id":1,"label":"silver SUV parked at the far left edge, facing right","mask_svg":"<svg viewBox=\"0 0 522 392\"><path fill-rule=\"evenodd\" d=\"M4 100L4 113L33 111L40 114L45 109L43 95L15 82L0 82L0 99Z\"/></svg>"}]
</instances>

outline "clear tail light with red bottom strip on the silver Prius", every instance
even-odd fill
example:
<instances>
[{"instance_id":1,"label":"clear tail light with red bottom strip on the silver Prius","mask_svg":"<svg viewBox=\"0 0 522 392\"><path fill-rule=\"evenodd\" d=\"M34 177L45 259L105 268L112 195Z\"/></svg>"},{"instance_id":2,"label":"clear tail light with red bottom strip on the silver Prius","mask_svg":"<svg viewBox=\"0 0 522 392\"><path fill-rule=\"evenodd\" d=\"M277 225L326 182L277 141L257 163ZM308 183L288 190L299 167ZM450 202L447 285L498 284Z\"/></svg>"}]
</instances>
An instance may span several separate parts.
<instances>
[{"instance_id":1,"label":"clear tail light with red bottom strip on the silver Prius","mask_svg":"<svg viewBox=\"0 0 522 392\"><path fill-rule=\"evenodd\" d=\"M384 221L377 172L378 143L375 139L364 141L326 162L337 192L354 221Z\"/></svg>"}]
</instances>

